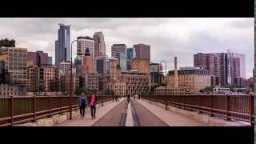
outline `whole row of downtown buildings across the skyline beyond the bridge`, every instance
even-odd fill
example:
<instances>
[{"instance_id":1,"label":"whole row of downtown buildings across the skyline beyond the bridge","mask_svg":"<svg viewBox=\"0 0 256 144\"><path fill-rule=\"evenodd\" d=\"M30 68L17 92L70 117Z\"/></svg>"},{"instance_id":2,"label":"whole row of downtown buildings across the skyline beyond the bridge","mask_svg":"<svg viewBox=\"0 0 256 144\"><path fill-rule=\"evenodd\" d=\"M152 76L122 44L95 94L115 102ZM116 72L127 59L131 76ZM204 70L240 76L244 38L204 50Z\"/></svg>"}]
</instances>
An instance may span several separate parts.
<instances>
[{"instance_id":1,"label":"whole row of downtown buildings across the skyline beyond the bridge","mask_svg":"<svg viewBox=\"0 0 256 144\"><path fill-rule=\"evenodd\" d=\"M194 54L194 66L179 70L175 57L174 70L165 76L162 64L150 60L150 45L139 43L127 47L117 43L111 46L109 57L102 32L95 32L92 37L77 37L73 62L70 26L59 26L55 65L43 51L16 47L14 40L0 41L0 88L3 87L0 95L68 94L70 86L72 90L94 90L97 94L164 94L166 87L161 85L167 85L168 94L185 94L197 93L206 86L245 85L244 54L198 53ZM155 84L159 86L152 90Z\"/></svg>"}]
</instances>

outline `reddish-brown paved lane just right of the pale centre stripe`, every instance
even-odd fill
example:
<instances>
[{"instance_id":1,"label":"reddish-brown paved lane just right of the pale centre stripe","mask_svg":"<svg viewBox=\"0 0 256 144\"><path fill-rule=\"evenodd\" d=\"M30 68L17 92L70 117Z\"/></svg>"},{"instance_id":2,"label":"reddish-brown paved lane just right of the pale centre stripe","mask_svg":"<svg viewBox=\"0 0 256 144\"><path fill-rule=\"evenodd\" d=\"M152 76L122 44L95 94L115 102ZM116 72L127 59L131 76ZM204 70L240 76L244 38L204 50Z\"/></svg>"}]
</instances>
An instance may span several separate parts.
<instances>
[{"instance_id":1,"label":"reddish-brown paved lane just right of the pale centre stripe","mask_svg":"<svg viewBox=\"0 0 256 144\"><path fill-rule=\"evenodd\" d=\"M134 98L131 98L131 106L134 108L134 117L138 117L134 118L134 121L137 121L139 126L169 126Z\"/></svg>"}]
</instances>

